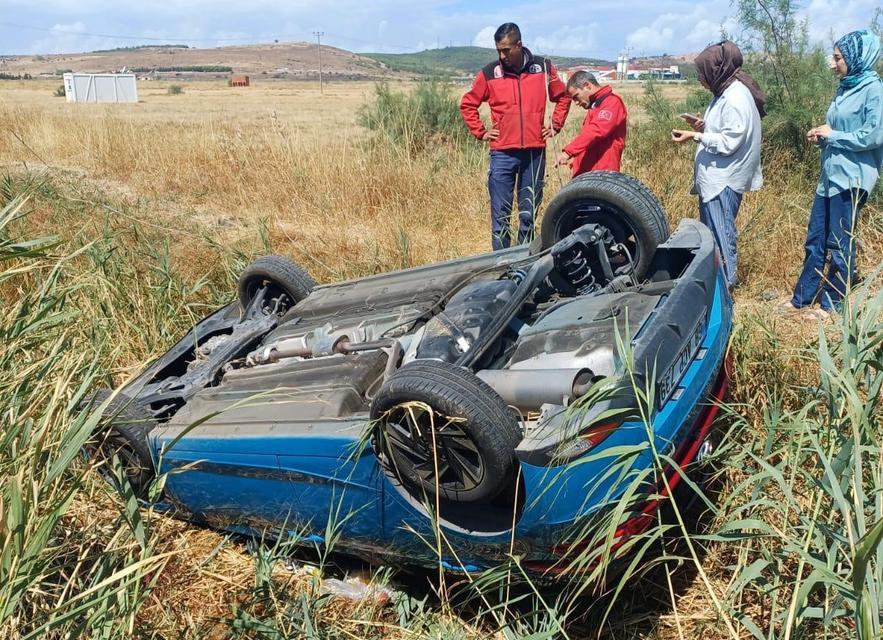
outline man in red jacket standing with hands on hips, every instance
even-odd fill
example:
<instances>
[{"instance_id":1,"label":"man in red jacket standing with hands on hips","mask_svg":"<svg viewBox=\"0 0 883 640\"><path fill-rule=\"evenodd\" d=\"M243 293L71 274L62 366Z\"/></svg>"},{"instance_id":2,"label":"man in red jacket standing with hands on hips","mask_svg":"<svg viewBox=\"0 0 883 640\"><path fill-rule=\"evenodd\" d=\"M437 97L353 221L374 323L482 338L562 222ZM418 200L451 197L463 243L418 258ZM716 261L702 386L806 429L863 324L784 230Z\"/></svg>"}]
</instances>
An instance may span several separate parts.
<instances>
[{"instance_id":1,"label":"man in red jacket standing with hands on hips","mask_svg":"<svg viewBox=\"0 0 883 640\"><path fill-rule=\"evenodd\" d=\"M501 25L494 41L499 60L475 76L472 88L460 101L460 113L472 135L490 143L491 246L497 250L510 244L516 183L518 242L529 242L533 235L534 212L543 199L546 140L564 126L570 97L552 62L522 46L518 25ZM556 103L551 127L545 124L547 96ZM490 129L478 115L482 102L491 109Z\"/></svg>"}]
</instances>

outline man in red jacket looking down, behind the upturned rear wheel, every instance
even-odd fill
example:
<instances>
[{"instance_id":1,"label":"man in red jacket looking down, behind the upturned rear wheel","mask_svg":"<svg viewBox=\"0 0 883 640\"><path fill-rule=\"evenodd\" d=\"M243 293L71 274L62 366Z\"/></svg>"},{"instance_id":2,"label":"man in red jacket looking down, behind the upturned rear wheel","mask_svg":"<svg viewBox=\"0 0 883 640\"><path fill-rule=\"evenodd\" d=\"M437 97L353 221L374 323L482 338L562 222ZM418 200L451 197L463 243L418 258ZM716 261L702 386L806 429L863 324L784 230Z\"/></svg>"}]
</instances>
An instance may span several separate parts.
<instances>
[{"instance_id":1,"label":"man in red jacket looking down, behind the upturned rear wheel","mask_svg":"<svg viewBox=\"0 0 883 640\"><path fill-rule=\"evenodd\" d=\"M569 165L574 178L587 171L619 171L628 119L622 99L587 71L573 74L567 93L587 113L582 129L561 151L556 166Z\"/></svg>"}]
</instances>

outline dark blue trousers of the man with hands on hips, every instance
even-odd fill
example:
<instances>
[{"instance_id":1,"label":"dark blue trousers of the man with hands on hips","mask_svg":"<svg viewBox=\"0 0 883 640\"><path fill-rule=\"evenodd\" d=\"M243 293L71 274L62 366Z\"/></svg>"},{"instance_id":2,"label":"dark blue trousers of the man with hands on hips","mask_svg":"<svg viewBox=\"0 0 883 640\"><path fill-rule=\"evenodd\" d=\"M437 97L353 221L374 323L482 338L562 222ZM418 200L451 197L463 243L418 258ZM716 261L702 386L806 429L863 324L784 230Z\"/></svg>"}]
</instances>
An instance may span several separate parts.
<instances>
[{"instance_id":1,"label":"dark blue trousers of the man with hands on hips","mask_svg":"<svg viewBox=\"0 0 883 640\"><path fill-rule=\"evenodd\" d=\"M509 221L518 183L518 243L533 238L534 214L543 200L546 173L545 149L507 149L491 151L487 187L491 196L491 247L494 251L509 246Z\"/></svg>"}]
</instances>

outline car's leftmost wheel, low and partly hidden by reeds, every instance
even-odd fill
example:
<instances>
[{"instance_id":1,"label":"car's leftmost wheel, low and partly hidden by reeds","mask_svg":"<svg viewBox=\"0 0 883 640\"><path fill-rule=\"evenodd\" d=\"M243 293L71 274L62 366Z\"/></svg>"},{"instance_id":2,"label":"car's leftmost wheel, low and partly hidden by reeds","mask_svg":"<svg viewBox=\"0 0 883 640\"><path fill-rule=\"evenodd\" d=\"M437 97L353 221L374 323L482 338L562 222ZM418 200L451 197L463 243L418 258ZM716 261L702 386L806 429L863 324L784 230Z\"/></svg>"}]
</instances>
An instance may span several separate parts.
<instances>
[{"instance_id":1,"label":"car's leftmost wheel, low and partly hidden by reeds","mask_svg":"<svg viewBox=\"0 0 883 640\"><path fill-rule=\"evenodd\" d=\"M101 389L82 406L84 409L97 409L112 394L110 389ZM101 462L98 472L110 484L115 482L110 462L116 456L139 498L147 497L150 483L156 475L147 442L147 434L154 426L156 422L146 409L118 393L105 407L99 427L85 447L90 457Z\"/></svg>"}]
</instances>

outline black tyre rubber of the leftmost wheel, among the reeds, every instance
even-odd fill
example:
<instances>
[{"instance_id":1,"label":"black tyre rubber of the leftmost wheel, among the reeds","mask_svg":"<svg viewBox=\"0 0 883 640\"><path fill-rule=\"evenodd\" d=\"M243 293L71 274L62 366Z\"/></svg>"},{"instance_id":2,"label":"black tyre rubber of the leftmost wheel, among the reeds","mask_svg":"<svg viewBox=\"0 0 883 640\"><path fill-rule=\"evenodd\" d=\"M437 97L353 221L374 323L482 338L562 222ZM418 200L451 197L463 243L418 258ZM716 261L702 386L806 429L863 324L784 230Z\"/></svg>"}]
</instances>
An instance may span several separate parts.
<instances>
[{"instance_id":1,"label":"black tyre rubber of the leftmost wheel, among the reeds","mask_svg":"<svg viewBox=\"0 0 883 640\"><path fill-rule=\"evenodd\" d=\"M82 403L82 408L97 409L111 395L113 391L110 389L99 389ZM116 436L117 440L124 441L135 454L142 471L137 475L129 474L129 483L139 498L147 497L147 489L156 475L153 456L147 442L147 434L155 426L156 421L146 409L136 405L128 396L118 393L104 409L104 415L96 430L101 444L106 444ZM103 455L109 457L106 453Z\"/></svg>"}]
</instances>

